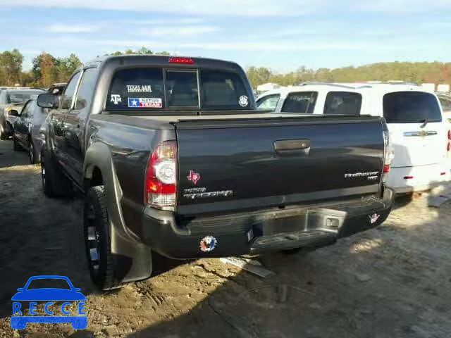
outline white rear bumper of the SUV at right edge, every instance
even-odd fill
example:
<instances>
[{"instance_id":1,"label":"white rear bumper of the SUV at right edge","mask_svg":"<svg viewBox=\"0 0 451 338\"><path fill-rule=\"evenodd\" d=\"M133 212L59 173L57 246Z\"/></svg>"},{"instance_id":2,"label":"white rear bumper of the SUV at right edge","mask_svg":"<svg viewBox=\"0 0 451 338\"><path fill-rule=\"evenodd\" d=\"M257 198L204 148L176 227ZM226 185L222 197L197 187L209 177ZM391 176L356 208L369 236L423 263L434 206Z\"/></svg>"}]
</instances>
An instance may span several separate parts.
<instances>
[{"instance_id":1,"label":"white rear bumper of the SUV at right edge","mask_svg":"<svg viewBox=\"0 0 451 338\"><path fill-rule=\"evenodd\" d=\"M433 165L392 168L388 176L387 185L395 190L396 194L423 192L450 182L450 164L449 161L444 161ZM406 177L413 178L407 179Z\"/></svg>"}]
</instances>

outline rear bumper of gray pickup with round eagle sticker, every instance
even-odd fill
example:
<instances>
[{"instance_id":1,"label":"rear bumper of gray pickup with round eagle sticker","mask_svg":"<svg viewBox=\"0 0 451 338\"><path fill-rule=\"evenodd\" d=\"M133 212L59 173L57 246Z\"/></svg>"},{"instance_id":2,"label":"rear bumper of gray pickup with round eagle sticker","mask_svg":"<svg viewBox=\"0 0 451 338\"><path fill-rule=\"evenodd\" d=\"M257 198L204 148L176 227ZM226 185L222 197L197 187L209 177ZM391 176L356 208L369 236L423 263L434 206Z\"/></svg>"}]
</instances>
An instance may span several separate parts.
<instances>
[{"instance_id":1,"label":"rear bumper of gray pickup with round eagle sticker","mask_svg":"<svg viewBox=\"0 0 451 338\"><path fill-rule=\"evenodd\" d=\"M146 208L142 241L163 256L176 259L325 246L383 223L393 199L393 190L385 188L383 199L214 216L187 221L183 227L170 211ZM211 251L202 251L202 239L209 236L216 239L216 245Z\"/></svg>"}]
</instances>

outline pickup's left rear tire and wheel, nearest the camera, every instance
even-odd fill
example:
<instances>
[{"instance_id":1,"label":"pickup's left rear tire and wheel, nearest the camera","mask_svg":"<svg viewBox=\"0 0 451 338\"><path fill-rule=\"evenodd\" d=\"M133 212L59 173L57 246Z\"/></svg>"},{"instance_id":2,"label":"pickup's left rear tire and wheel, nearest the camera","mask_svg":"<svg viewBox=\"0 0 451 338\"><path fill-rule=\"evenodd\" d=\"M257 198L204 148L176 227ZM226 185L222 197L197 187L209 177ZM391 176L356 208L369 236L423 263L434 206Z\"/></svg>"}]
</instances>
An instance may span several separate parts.
<instances>
[{"instance_id":1,"label":"pickup's left rear tire and wheel, nearest the camera","mask_svg":"<svg viewBox=\"0 0 451 338\"><path fill-rule=\"evenodd\" d=\"M102 290L121 287L111 253L110 221L103 185L91 187L85 196L83 232L92 282Z\"/></svg>"}]
</instances>

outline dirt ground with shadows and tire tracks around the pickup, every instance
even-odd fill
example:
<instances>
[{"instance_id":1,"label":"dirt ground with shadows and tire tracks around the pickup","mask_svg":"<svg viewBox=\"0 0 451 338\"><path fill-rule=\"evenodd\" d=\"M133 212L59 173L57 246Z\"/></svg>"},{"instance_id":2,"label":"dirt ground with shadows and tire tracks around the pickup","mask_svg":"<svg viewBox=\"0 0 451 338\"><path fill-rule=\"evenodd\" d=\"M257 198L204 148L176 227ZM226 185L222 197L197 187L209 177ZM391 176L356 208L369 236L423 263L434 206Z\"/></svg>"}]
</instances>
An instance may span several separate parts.
<instances>
[{"instance_id":1,"label":"dirt ground with shadows and tire tracks around the pickup","mask_svg":"<svg viewBox=\"0 0 451 338\"><path fill-rule=\"evenodd\" d=\"M0 337L451 337L451 203L397 201L376 230L259 261L268 279L219 260L100 294L87 272L79 199L47 199L39 167L0 142ZM168 262L167 269L173 264ZM11 330L11 296L32 275L66 275L87 296L87 330Z\"/></svg>"}]
</instances>

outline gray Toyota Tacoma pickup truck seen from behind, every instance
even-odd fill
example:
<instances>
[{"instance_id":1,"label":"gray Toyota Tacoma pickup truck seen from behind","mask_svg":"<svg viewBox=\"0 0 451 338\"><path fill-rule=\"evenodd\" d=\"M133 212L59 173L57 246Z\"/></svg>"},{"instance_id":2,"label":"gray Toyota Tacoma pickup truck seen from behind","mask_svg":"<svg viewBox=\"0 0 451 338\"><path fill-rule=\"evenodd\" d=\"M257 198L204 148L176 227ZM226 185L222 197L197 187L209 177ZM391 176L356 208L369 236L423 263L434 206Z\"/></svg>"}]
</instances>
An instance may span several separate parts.
<instances>
[{"instance_id":1,"label":"gray Toyota Tacoma pickup truck seen from behind","mask_svg":"<svg viewBox=\"0 0 451 338\"><path fill-rule=\"evenodd\" d=\"M169 258L333 244L383 223L383 118L256 110L236 63L109 56L70 78L42 127L47 196L80 190L92 280L152 275ZM154 255L155 257L156 255Z\"/></svg>"}]
</instances>

